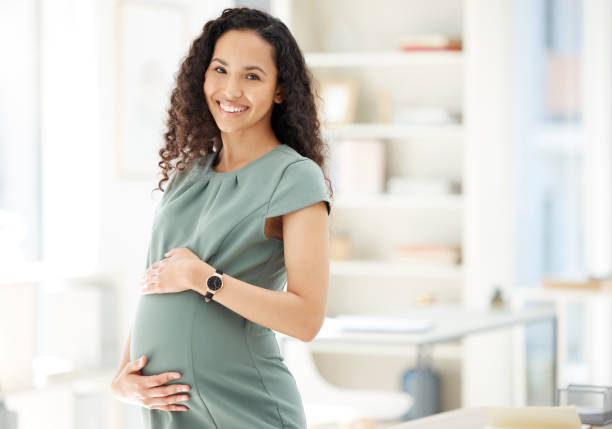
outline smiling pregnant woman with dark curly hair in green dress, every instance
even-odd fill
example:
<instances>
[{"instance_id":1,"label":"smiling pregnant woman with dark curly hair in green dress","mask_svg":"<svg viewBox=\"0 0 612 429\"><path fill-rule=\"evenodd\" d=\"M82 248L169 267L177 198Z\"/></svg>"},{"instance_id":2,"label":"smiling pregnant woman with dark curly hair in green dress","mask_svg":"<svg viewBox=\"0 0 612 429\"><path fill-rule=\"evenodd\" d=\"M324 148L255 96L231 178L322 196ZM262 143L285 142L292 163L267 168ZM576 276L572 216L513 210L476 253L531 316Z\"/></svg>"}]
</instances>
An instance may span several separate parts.
<instances>
[{"instance_id":1,"label":"smiling pregnant woman with dark curly hair in green dress","mask_svg":"<svg viewBox=\"0 0 612 429\"><path fill-rule=\"evenodd\" d=\"M147 428L306 427L273 331L310 341L325 317L331 207L311 85L287 27L255 9L206 23L182 63L158 189L176 171L111 384Z\"/></svg>"}]
</instances>

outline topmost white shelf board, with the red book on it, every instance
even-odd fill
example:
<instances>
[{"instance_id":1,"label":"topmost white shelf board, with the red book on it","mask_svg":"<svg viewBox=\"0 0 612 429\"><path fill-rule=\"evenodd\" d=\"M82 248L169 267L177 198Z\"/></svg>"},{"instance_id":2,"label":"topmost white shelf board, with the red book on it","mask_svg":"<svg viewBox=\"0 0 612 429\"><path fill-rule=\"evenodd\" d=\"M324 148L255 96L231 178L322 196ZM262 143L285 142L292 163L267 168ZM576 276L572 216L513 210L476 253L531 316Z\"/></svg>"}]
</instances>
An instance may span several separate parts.
<instances>
[{"instance_id":1,"label":"topmost white shelf board, with the red book on it","mask_svg":"<svg viewBox=\"0 0 612 429\"><path fill-rule=\"evenodd\" d=\"M461 51L429 52L308 52L304 54L310 67L385 67L385 66L462 66Z\"/></svg>"}]
</instances>

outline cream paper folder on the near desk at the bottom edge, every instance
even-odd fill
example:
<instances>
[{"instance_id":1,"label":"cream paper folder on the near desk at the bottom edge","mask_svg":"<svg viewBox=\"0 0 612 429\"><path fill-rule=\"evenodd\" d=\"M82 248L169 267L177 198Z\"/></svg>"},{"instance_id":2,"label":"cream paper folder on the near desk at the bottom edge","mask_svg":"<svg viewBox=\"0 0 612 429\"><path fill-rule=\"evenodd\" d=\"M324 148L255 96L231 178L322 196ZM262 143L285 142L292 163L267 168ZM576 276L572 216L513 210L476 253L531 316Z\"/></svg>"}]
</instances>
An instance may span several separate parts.
<instances>
[{"instance_id":1,"label":"cream paper folder on the near desk at the bottom edge","mask_svg":"<svg viewBox=\"0 0 612 429\"><path fill-rule=\"evenodd\" d=\"M574 405L566 407L484 407L485 429L581 429Z\"/></svg>"}]
</instances>

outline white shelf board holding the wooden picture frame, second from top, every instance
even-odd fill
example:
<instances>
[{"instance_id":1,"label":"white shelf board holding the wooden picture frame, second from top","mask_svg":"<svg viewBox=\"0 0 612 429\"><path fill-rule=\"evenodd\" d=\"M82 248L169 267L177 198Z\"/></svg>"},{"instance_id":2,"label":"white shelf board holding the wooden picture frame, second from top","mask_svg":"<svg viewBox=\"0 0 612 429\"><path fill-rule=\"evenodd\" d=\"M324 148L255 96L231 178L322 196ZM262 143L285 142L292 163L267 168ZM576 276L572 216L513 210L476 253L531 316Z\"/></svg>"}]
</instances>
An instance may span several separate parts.
<instances>
[{"instance_id":1,"label":"white shelf board holding the wooden picture frame, second from top","mask_svg":"<svg viewBox=\"0 0 612 429\"><path fill-rule=\"evenodd\" d=\"M446 124L385 124L354 123L328 125L322 129L325 137L331 138L453 138L463 137L460 123Z\"/></svg>"}]
</instances>

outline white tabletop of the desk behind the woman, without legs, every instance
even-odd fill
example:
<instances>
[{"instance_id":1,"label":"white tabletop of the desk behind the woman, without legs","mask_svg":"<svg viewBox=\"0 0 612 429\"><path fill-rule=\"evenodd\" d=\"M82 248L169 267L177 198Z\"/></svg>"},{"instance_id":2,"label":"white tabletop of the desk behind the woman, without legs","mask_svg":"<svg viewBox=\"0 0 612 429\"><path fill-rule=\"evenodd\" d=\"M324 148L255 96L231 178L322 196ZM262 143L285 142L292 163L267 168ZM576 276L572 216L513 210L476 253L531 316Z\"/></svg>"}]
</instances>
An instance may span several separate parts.
<instances>
[{"instance_id":1,"label":"white tabletop of the desk behind the woman, without legs","mask_svg":"<svg viewBox=\"0 0 612 429\"><path fill-rule=\"evenodd\" d=\"M372 316L381 316L372 315ZM478 332L511 327L537 321L551 320L556 317L554 309L539 308L521 311L510 310L473 310L460 306L435 306L414 308L404 314L388 314L389 317L410 319L429 319L433 327L425 332L386 333L353 332L339 329L333 318L326 318L313 346L326 343L382 343L422 346L460 340ZM331 320L330 320L331 319Z\"/></svg>"}]
</instances>

